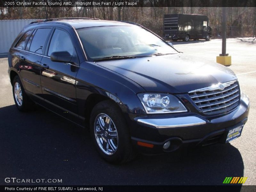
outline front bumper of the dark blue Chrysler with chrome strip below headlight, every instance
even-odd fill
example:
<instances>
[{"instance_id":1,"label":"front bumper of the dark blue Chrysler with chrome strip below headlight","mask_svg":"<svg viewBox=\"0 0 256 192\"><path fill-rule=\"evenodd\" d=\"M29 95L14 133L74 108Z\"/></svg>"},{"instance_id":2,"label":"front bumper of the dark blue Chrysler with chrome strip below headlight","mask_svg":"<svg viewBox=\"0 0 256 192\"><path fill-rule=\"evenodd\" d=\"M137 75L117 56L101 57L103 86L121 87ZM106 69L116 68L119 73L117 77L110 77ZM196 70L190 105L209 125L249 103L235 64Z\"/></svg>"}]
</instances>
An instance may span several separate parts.
<instances>
[{"instance_id":1,"label":"front bumper of the dark blue Chrysler with chrome strip below headlight","mask_svg":"<svg viewBox=\"0 0 256 192\"><path fill-rule=\"evenodd\" d=\"M228 130L245 124L249 114L250 103L242 93L239 105L229 113L221 116L206 117L196 113L182 115L134 116L127 114L132 135L132 144L141 153L158 154L175 151L183 146L210 145L225 143ZM163 145L171 142L168 149ZM141 145L141 143L148 143Z\"/></svg>"}]
</instances>

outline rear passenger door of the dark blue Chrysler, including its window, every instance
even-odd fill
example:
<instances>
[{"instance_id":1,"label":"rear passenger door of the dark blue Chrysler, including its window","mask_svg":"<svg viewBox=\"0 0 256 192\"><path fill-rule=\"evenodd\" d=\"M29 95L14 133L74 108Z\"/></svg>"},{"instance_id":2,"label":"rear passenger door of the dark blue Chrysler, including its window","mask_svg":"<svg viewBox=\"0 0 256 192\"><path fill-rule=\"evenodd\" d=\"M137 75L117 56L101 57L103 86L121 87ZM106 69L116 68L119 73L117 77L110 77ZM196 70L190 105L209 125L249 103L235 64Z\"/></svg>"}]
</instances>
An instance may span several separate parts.
<instances>
[{"instance_id":1,"label":"rear passenger door of the dark blue Chrysler, including its window","mask_svg":"<svg viewBox=\"0 0 256 192\"><path fill-rule=\"evenodd\" d=\"M51 28L37 28L25 33L26 43L16 45L20 49L20 76L23 86L28 94L37 102L41 102L42 96L40 72L41 60L45 49L46 40ZM22 37L23 38L23 37ZM21 38L21 39L22 39Z\"/></svg>"}]
</instances>

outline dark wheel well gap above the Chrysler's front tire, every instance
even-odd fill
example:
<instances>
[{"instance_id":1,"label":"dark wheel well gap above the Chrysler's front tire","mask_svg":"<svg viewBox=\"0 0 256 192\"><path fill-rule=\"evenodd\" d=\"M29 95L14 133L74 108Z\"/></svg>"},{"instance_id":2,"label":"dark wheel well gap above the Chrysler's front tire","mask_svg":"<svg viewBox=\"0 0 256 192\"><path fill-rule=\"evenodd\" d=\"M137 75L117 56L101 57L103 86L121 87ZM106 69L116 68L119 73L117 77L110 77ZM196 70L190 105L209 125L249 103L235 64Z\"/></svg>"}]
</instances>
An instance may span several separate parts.
<instances>
[{"instance_id":1,"label":"dark wheel well gap above the Chrysler's front tire","mask_svg":"<svg viewBox=\"0 0 256 192\"><path fill-rule=\"evenodd\" d=\"M92 93L91 95L88 96L88 98L85 101L85 106L84 106L86 125L89 125L91 112L92 112L92 109L94 108L94 106L97 105L99 102L105 101L105 100L111 100L111 99L106 96L97 94L97 93Z\"/></svg>"}]
</instances>

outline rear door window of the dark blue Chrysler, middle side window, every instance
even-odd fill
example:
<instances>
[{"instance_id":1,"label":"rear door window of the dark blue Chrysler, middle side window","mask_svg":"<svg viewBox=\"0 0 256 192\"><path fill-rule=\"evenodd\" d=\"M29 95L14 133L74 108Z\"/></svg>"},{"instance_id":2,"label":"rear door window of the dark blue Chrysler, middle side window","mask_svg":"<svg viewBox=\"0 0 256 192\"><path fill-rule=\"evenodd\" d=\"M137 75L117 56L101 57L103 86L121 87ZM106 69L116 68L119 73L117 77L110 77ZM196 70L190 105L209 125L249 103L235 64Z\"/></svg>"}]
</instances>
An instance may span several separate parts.
<instances>
[{"instance_id":1,"label":"rear door window of the dark blue Chrysler, middle side window","mask_svg":"<svg viewBox=\"0 0 256 192\"><path fill-rule=\"evenodd\" d=\"M47 41L47 37L50 31L50 28L37 29L30 44L29 51L43 54L44 45Z\"/></svg>"}]
</instances>

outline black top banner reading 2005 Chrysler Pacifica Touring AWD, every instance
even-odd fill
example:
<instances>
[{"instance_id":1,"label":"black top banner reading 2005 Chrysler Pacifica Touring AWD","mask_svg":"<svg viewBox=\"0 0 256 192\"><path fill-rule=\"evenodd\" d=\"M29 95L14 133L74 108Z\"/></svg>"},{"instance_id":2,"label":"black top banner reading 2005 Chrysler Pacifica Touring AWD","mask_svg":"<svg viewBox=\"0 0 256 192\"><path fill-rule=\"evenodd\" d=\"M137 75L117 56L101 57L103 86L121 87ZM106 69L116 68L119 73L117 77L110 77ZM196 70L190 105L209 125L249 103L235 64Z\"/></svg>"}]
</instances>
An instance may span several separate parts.
<instances>
[{"instance_id":1,"label":"black top banner reading 2005 Chrysler Pacifica Touring AWD","mask_svg":"<svg viewBox=\"0 0 256 192\"><path fill-rule=\"evenodd\" d=\"M1 0L1 7L255 7L256 0Z\"/></svg>"}]
</instances>

